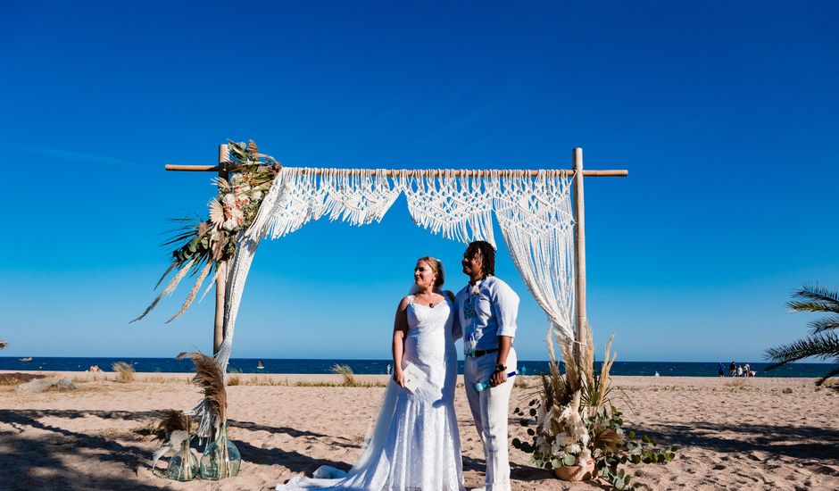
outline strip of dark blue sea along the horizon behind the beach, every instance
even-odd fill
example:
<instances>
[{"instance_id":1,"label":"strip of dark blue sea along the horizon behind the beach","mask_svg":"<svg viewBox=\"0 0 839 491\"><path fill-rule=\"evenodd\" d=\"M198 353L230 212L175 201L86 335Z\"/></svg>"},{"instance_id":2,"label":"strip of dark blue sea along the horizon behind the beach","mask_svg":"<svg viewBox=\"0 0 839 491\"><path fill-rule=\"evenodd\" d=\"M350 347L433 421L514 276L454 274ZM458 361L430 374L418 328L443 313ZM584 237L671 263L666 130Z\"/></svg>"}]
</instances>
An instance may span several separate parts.
<instances>
[{"instance_id":1,"label":"strip of dark blue sea along the horizon behind the beach","mask_svg":"<svg viewBox=\"0 0 839 491\"><path fill-rule=\"evenodd\" d=\"M25 360L25 361L24 361ZM0 370L51 370L51 371L84 371L92 365L97 365L105 371L111 371L114 362L127 362L136 371L186 373L193 370L189 360L175 360L174 358L87 358L87 357L32 357L15 358L0 356ZM262 362L264 368L259 369ZM336 365L349 365L357 374L387 373L387 366L391 360L293 360L273 358L233 358L230 360L228 371L242 373L303 373L322 374L333 373ZM723 362L726 370L728 362ZM738 362L743 364L743 362ZM752 370L757 377L821 377L828 371L839 367L836 363L788 363L775 370L764 371L769 363L752 362ZM600 363L595 363L599 368ZM524 367L527 375L538 375L548 371L548 362L521 361L519 369ZM463 361L458 362L458 372L463 373ZM640 375L662 377L717 377L717 362L615 362L611 368L612 375Z\"/></svg>"}]
</instances>

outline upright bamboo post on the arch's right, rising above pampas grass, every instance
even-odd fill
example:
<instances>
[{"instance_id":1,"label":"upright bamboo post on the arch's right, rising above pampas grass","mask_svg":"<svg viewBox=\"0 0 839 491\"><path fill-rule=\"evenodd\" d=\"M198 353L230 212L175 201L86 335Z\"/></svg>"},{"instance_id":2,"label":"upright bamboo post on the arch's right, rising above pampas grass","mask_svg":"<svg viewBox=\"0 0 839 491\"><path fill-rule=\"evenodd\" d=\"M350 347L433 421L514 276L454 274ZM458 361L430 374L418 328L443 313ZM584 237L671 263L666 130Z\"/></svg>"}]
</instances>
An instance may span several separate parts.
<instances>
[{"instance_id":1,"label":"upright bamboo post on the arch's right, rising above pampas grass","mask_svg":"<svg viewBox=\"0 0 839 491\"><path fill-rule=\"evenodd\" d=\"M571 157L574 163L574 268L577 295L577 329L574 356L580 361L580 343L586 342L586 204L583 199L583 149L575 148Z\"/></svg>"}]
</instances>

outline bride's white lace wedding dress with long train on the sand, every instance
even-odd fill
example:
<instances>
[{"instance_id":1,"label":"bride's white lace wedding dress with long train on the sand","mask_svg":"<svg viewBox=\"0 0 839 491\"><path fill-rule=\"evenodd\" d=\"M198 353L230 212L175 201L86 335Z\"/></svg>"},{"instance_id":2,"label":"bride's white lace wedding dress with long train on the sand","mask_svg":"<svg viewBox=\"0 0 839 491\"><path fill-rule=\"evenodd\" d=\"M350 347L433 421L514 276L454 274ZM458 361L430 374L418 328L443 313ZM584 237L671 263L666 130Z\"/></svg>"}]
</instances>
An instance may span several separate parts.
<instances>
[{"instance_id":1,"label":"bride's white lace wedding dress with long train on the sand","mask_svg":"<svg viewBox=\"0 0 839 491\"><path fill-rule=\"evenodd\" d=\"M367 448L342 479L291 479L278 490L462 491L461 438L454 413L457 352L453 303L407 307L403 367L427 376L413 393L393 380L387 386Z\"/></svg>"}]
</instances>

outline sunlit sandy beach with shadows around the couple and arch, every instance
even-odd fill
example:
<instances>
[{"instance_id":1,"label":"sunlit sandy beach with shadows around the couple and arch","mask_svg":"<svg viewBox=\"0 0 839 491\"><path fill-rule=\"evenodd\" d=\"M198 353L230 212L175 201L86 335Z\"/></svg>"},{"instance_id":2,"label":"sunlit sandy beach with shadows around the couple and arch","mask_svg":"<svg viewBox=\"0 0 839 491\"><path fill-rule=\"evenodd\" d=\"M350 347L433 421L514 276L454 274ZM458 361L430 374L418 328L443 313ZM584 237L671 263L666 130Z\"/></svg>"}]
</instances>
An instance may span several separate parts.
<instances>
[{"instance_id":1,"label":"sunlit sandy beach with shadows around the couple and arch","mask_svg":"<svg viewBox=\"0 0 839 491\"><path fill-rule=\"evenodd\" d=\"M52 375L53 373L51 373ZM2 489L265 489L321 464L348 469L361 454L381 387L322 387L337 376L248 375L228 387L230 436L243 463L237 478L178 483L156 476L148 435L160 411L199 399L190 374L61 374L78 389L29 394L0 387ZM371 384L385 376L361 376ZM666 465L630 468L646 489L837 489L839 394L812 379L616 377L629 397L616 404L627 427L680 445ZM303 384L298 386L297 384ZM517 387L511 411L527 405ZM484 458L462 387L456 407L465 485L483 484ZM525 437L511 413L510 437ZM553 479L511 448L513 489L602 489ZM164 467L165 464L162 464Z\"/></svg>"}]
</instances>

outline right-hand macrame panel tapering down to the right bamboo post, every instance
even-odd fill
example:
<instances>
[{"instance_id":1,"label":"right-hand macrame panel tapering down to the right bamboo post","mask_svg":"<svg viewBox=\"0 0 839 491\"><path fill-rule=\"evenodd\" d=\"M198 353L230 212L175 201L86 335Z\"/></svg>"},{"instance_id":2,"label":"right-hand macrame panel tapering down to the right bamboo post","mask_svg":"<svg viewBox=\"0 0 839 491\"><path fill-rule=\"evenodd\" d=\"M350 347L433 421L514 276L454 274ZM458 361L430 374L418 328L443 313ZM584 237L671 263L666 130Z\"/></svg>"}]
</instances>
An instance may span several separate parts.
<instances>
[{"instance_id":1,"label":"right-hand macrame panel tapering down to the right bamboo post","mask_svg":"<svg viewBox=\"0 0 839 491\"><path fill-rule=\"evenodd\" d=\"M495 217L513 264L565 342L574 340L574 214L562 171L498 178Z\"/></svg>"}]
</instances>

